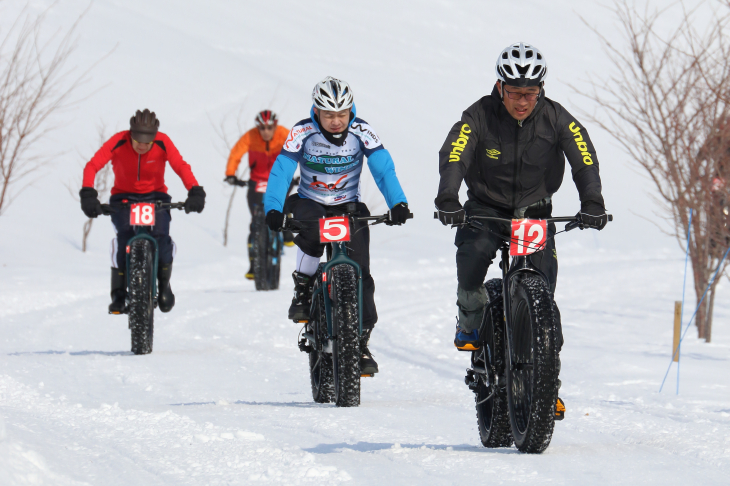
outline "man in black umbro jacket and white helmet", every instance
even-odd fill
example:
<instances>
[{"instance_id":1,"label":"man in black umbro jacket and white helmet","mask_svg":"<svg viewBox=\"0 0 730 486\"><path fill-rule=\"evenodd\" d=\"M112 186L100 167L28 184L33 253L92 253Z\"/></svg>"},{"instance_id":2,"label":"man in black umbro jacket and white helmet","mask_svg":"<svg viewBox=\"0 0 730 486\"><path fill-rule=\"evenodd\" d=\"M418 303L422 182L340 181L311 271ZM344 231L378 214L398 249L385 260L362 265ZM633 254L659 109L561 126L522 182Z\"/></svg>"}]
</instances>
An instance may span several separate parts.
<instances>
[{"instance_id":1,"label":"man in black umbro jacket and white helmet","mask_svg":"<svg viewBox=\"0 0 730 486\"><path fill-rule=\"evenodd\" d=\"M505 219L548 218L551 197L563 181L565 158L580 195L583 227L603 229L607 223L598 158L588 133L560 104L545 97L545 59L536 48L519 43L504 49L496 65L492 94L466 109L439 151L438 196L435 203L444 225L464 223L467 215ZM462 207L459 188L468 188ZM487 269L502 241L506 224L490 231L460 227L456 232L459 322L454 344L461 350L479 346L478 329L484 305ZM555 234L555 225L548 226ZM555 291L558 273L555 244L532 257ZM557 311L557 308L556 308ZM559 323L559 314L558 314ZM562 333L561 333L562 334ZM562 336L559 339L562 345Z\"/></svg>"}]
</instances>

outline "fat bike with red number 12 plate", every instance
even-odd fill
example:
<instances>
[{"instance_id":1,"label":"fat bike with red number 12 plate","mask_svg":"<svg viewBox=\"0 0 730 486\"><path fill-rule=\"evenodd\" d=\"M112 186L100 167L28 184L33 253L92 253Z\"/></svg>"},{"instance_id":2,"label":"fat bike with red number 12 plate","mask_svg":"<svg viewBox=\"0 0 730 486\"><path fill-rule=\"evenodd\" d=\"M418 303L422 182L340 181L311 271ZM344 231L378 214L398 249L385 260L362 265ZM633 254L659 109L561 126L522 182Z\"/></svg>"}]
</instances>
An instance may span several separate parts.
<instances>
[{"instance_id":1,"label":"fat bike with red number 12 plate","mask_svg":"<svg viewBox=\"0 0 730 486\"><path fill-rule=\"evenodd\" d=\"M502 278L484 284L489 303L479 329L481 346L471 352L464 381L474 392L485 447L514 443L522 452L541 453L550 445L555 425L560 331L548 278L530 255L543 251L547 239L555 236L548 236L548 224L567 223L562 233L581 227L581 222L575 216L470 216L465 225L489 231L482 221L504 223L512 230L509 237L495 232L505 239L500 247Z\"/></svg>"}]
</instances>

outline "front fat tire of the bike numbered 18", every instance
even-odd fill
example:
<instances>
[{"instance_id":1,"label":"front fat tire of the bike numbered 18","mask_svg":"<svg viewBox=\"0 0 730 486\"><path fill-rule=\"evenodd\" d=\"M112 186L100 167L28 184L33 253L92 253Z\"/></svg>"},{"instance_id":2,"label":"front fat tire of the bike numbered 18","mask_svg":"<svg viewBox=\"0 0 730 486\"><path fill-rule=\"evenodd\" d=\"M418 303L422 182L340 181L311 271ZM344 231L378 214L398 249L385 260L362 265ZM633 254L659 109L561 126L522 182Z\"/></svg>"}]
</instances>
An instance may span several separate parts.
<instances>
[{"instance_id":1,"label":"front fat tire of the bike numbered 18","mask_svg":"<svg viewBox=\"0 0 730 486\"><path fill-rule=\"evenodd\" d=\"M132 353L152 352L154 335L154 248L147 239L134 240L129 245L129 329L132 333Z\"/></svg>"}]
</instances>

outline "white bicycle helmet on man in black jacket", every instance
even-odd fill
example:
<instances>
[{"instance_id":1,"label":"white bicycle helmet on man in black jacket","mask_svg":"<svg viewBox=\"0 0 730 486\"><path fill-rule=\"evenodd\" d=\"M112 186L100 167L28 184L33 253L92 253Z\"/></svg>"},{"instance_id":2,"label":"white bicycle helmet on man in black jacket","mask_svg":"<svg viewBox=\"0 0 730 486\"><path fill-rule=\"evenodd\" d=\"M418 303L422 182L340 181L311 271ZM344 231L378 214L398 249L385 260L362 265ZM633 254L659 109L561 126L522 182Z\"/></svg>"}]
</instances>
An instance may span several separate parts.
<instances>
[{"instance_id":1,"label":"white bicycle helmet on man in black jacket","mask_svg":"<svg viewBox=\"0 0 730 486\"><path fill-rule=\"evenodd\" d=\"M508 86L541 86L547 76L547 63L535 47L522 42L505 47L497 58L497 78Z\"/></svg>"}]
</instances>

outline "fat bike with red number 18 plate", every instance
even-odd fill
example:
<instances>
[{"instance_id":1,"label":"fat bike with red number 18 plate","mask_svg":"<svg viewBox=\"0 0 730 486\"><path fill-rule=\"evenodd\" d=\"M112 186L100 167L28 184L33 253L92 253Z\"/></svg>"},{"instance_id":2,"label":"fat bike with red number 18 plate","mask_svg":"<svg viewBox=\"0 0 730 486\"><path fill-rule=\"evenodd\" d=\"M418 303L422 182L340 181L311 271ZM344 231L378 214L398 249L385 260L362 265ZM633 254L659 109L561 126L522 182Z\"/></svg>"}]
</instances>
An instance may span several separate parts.
<instances>
[{"instance_id":1,"label":"fat bike with red number 18 plate","mask_svg":"<svg viewBox=\"0 0 730 486\"><path fill-rule=\"evenodd\" d=\"M127 298L124 313L129 316L132 333L132 353L152 352L154 310L157 307L157 240L151 234L157 211L185 209L184 202L163 201L101 205L109 216L117 211L130 211L129 222L135 235L127 242Z\"/></svg>"}]
</instances>

